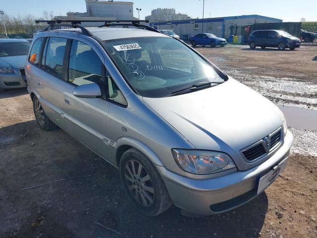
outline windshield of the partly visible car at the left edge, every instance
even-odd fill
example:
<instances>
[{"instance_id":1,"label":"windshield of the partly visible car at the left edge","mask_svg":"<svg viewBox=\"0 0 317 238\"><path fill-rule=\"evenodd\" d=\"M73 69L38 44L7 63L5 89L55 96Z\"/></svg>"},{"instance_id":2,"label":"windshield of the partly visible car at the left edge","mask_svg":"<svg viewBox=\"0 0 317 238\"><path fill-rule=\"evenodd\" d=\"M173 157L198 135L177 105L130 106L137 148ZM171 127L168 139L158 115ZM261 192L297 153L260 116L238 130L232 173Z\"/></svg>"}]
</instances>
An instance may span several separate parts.
<instances>
[{"instance_id":1,"label":"windshield of the partly visible car at the left edge","mask_svg":"<svg viewBox=\"0 0 317 238\"><path fill-rule=\"evenodd\" d=\"M30 49L29 42L1 42L0 57L26 56Z\"/></svg>"}]
</instances>

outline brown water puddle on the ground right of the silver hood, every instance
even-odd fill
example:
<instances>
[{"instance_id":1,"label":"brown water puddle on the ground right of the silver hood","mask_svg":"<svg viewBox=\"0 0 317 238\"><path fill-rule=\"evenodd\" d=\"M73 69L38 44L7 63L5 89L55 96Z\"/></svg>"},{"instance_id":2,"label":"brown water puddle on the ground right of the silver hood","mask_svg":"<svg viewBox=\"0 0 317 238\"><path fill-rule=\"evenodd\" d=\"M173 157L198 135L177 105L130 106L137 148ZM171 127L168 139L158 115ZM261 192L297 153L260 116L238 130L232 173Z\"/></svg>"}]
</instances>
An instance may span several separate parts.
<instances>
[{"instance_id":1,"label":"brown water puddle on the ground right of the silver hood","mask_svg":"<svg viewBox=\"0 0 317 238\"><path fill-rule=\"evenodd\" d=\"M287 124L298 130L317 130L317 110L292 106L278 106L283 112Z\"/></svg>"}]
</instances>

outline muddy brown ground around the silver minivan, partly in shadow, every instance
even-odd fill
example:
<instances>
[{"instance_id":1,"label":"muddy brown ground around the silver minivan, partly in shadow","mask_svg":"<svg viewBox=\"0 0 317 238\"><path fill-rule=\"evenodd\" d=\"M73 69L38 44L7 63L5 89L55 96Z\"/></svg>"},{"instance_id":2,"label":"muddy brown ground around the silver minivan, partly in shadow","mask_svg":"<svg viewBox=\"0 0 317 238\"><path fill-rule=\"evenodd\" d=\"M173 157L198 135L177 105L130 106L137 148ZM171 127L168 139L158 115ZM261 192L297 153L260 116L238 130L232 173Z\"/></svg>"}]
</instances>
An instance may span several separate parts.
<instances>
[{"instance_id":1,"label":"muddy brown ground around the silver minivan, partly in shadow","mask_svg":"<svg viewBox=\"0 0 317 238\"><path fill-rule=\"evenodd\" d=\"M197 49L277 105L317 109L317 47ZM26 89L5 91L0 94L0 237L317 237L316 130L305 129L305 123L296 127L290 128L295 142L288 167L253 201L205 218L183 217L176 207L146 217L129 204L116 169L61 129L39 129ZM59 179L67 180L23 189Z\"/></svg>"}]
</instances>

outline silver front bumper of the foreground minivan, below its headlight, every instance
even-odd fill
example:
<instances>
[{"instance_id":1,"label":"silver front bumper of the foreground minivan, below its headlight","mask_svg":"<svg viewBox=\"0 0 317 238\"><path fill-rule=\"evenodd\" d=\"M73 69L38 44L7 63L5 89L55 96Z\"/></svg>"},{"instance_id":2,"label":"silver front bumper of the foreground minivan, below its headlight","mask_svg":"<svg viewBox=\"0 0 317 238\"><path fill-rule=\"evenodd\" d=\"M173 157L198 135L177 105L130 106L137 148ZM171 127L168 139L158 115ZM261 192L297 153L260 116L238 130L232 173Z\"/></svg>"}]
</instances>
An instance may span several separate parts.
<instances>
[{"instance_id":1,"label":"silver front bumper of the foreground minivan, below its headlight","mask_svg":"<svg viewBox=\"0 0 317 238\"><path fill-rule=\"evenodd\" d=\"M214 179L190 179L156 167L175 206L187 214L208 216L229 211L258 196L258 179L288 159L292 143L293 135L288 131L283 145L262 164Z\"/></svg>"}]
</instances>

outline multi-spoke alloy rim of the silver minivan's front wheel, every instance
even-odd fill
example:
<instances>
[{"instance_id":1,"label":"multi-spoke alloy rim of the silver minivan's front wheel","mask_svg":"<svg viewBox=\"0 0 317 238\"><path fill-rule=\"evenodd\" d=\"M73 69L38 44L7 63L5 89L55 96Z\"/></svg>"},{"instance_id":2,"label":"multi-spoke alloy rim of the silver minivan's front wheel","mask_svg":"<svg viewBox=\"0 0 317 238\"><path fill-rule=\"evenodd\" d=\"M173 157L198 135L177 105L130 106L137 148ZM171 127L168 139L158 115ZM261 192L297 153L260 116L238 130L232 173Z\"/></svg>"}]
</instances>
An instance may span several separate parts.
<instances>
[{"instance_id":1,"label":"multi-spoke alloy rim of the silver minivan's front wheel","mask_svg":"<svg viewBox=\"0 0 317 238\"><path fill-rule=\"evenodd\" d=\"M124 176L127 187L134 199L144 207L153 205L155 199L154 185L145 167L136 160L129 160L125 164Z\"/></svg>"}]
</instances>

